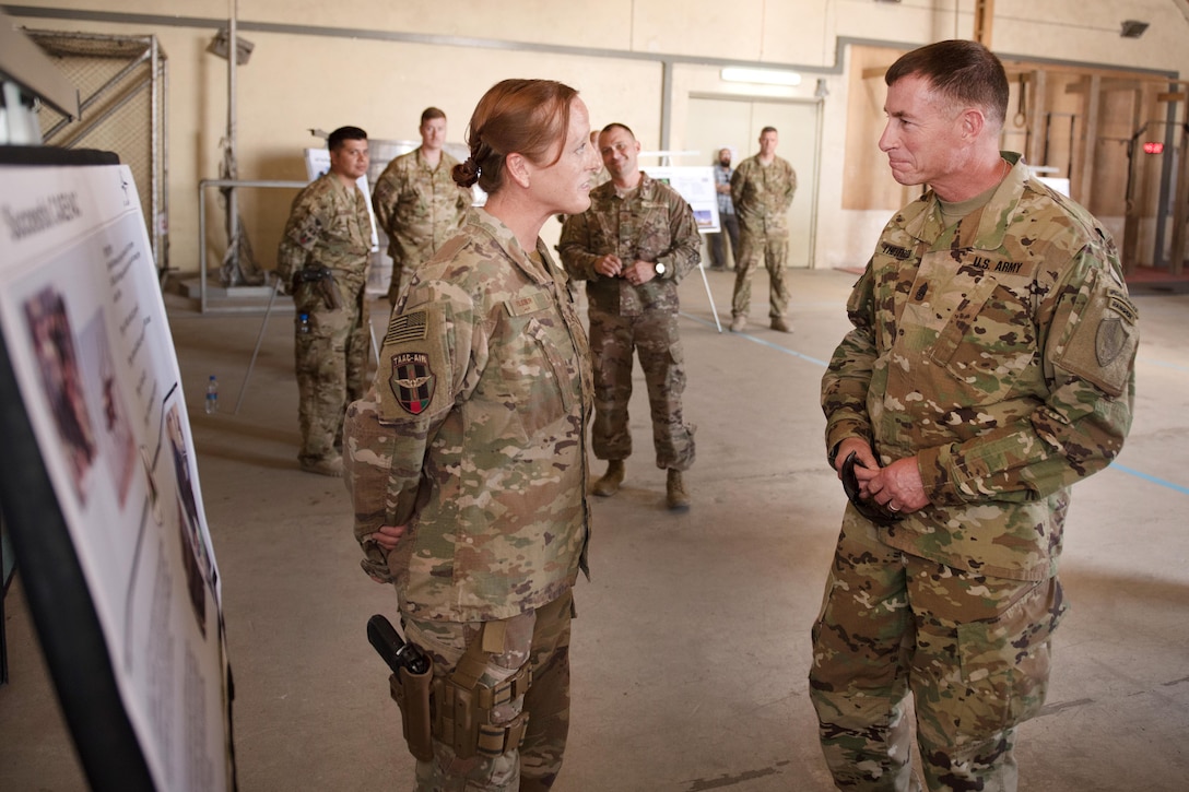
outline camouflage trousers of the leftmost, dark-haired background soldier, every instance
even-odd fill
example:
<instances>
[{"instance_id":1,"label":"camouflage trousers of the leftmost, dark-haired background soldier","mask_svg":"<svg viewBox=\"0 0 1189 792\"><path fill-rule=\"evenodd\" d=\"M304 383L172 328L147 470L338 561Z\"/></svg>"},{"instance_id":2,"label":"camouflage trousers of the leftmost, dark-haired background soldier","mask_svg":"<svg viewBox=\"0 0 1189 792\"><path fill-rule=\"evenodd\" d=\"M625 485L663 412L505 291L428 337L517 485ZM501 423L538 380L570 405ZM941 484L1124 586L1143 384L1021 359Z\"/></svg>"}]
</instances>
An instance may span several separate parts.
<instances>
[{"instance_id":1,"label":"camouflage trousers of the leftmost, dark-haired background soldier","mask_svg":"<svg viewBox=\"0 0 1189 792\"><path fill-rule=\"evenodd\" d=\"M333 459L342 447L342 419L347 404L367 390L371 326L364 288L348 294L339 287L342 308L329 309L309 283L294 294L297 422L301 452L307 463ZM309 318L303 333L301 314Z\"/></svg>"}]
</instances>

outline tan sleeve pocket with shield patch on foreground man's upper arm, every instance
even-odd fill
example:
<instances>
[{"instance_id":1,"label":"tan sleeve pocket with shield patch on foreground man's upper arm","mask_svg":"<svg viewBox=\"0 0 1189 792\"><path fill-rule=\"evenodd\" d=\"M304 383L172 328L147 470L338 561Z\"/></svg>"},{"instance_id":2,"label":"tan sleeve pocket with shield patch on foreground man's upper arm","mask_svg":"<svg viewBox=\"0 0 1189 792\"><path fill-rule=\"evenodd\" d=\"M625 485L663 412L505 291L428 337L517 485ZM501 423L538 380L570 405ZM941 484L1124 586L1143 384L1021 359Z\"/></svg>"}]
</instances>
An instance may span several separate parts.
<instances>
[{"instance_id":1,"label":"tan sleeve pocket with shield patch on foreground man's upper arm","mask_svg":"<svg viewBox=\"0 0 1189 792\"><path fill-rule=\"evenodd\" d=\"M1062 365L1111 396L1121 396L1139 346L1139 312L1126 293L1096 294L1077 322Z\"/></svg>"}]
</instances>

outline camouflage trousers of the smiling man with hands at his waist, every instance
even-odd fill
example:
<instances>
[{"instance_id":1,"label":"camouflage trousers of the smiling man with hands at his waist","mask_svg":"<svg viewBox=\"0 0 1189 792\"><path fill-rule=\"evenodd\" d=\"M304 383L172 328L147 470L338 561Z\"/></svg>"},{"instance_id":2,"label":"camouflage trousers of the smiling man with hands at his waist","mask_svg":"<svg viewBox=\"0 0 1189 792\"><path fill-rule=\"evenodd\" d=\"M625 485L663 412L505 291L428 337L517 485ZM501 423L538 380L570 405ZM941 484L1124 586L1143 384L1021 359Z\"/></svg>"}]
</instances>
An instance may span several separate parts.
<instances>
[{"instance_id":1,"label":"camouflage trousers of the smiling man with hands at his waist","mask_svg":"<svg viewBox=\"0 0 1189 792\"><path fill-rule=\"evenodd\" d=\"M677 314L648 310L619 316L590 309L591 360L594 367L594 420L591 446L598 459L631 455L628 402L631 401L631 352L640 356L653 417L656 466L688 470L693 465L694 427L685 423L685 353Z\"/></svg>"}]
</instances>

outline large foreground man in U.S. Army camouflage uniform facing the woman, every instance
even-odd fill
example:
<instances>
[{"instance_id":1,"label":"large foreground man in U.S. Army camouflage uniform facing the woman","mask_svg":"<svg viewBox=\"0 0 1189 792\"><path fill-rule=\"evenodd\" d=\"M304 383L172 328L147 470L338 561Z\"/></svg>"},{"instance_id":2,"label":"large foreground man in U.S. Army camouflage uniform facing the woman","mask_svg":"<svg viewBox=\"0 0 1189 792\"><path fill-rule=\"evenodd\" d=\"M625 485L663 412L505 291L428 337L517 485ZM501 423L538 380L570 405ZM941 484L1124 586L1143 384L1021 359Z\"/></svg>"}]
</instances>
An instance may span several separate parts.
<instances>
[{"instance_id":1,"label":"large foreground man in U.S. Army camouflage uniform facing the woman","mask_svg":"<svg viewBox=\"0 0 1189 792\"><path fill-rule=\"evenodd\" d=\"M1137 316L1109 234L999 151L994 55L940 42L885 81L880 147L931 189L883 230L822 381L853 504L810 693L839 788L920 788L911 691L927 787L1011 791L1067 609L1069 488L1131 427Z\"/></svg>"}]
</instances>

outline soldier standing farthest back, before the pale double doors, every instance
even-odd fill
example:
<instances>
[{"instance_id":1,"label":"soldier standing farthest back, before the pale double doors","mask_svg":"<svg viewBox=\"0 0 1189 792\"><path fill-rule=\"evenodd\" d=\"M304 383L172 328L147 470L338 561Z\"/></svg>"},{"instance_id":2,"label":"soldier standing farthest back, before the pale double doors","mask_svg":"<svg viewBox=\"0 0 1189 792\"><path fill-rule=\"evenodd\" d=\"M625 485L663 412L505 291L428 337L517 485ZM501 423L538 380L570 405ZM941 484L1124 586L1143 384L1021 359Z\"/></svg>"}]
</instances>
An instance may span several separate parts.
<instances>
[{"instance_id":1,"label":"soldier standing farthest back, before the pale double doors","mask_svg":"<svg viewBox=\"0 0 1189 792\"><path fill-rule=\"evenodd\" d=\"M776 156L776 128L760 132L760 153L748 157L731 176L731 201L740 222L740 246L735 269L735 295L731 297L731 332L747 328L751 309L751 276L763 260L768 268L772 329L791 333L788 288L788 207L797 191L797 172L787 159Z\"/></svg>"}]
</instances>

